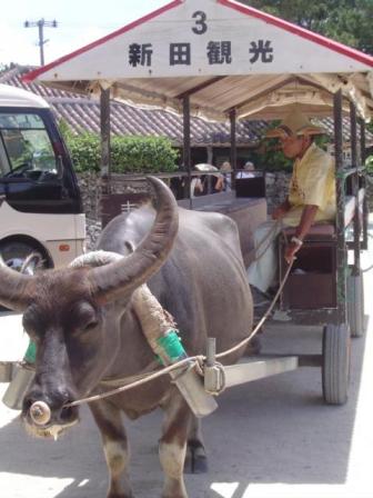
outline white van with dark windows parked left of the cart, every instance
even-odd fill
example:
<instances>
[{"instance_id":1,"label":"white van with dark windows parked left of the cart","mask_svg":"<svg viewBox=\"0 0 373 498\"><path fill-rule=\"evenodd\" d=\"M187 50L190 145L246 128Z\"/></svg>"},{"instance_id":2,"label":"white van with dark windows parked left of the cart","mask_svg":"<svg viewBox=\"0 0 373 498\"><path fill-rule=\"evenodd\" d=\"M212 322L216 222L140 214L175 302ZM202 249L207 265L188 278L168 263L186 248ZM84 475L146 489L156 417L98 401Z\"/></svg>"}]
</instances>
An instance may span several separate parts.
<instances>
[{"instance_id":1,"label":"white van with dark windows parked left of the cart","mask_svg":"<svg viewBox=\"0 0 373 498\"><path fill-rule=\"evenodd\" d=\"M77 178L49 104L0 84L0 256L18 270L32 252L58 268L84 240Z\"/></svg>"}]
</instances>

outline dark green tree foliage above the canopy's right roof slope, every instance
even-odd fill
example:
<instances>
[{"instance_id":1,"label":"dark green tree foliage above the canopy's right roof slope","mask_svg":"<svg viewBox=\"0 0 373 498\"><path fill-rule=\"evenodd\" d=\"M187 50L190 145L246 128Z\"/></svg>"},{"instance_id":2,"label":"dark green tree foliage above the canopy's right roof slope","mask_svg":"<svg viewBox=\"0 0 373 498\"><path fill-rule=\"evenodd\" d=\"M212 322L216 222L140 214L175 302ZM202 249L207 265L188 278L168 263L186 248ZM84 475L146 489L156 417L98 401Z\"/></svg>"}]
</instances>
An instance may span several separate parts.
<instances>
[{"instance_id":1,"label":"dark green tree foliage above the canopy's right roof slope","mask_svg":"<svg viewBox=\"0 0 373 498\"><path fill-rule=\"evenodd\" d=\"M302 28L373 53L373 0L240 0Z\"/></svg>"}]
</instances>

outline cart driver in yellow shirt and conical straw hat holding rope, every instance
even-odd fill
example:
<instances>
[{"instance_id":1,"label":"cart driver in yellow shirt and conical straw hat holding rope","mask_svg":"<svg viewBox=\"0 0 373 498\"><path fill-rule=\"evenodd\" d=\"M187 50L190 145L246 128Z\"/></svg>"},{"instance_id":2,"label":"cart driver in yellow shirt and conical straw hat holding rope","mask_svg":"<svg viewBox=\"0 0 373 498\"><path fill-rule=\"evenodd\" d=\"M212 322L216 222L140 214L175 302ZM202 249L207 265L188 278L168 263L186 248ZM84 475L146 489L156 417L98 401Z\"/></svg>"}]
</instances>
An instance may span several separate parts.
<instances>
[{"instance_id":1,"label":"cart driver in yellow shirt and conical straw hat holding rope","mask_svg":"<svg viewBox=\"0 0 373 498\"><path fill-rule=\"evenodd\" d=\"M272 220L254 232L255 260L248 268L248 279L260 292L275 285L278 255L275 238L283 227L295 227L295 236L285 248L290 262L303 245L314 222L335 219L335 167L333 158L313 142L313 136L324 131L293 108L282 123L268 132L268 138L281 140L283 153L294 159L293 175L285 201L272 213ZM260 295L259 292L259 295ZM254 290L254 301L255 290Z\"/></svg>"}]
</instances>

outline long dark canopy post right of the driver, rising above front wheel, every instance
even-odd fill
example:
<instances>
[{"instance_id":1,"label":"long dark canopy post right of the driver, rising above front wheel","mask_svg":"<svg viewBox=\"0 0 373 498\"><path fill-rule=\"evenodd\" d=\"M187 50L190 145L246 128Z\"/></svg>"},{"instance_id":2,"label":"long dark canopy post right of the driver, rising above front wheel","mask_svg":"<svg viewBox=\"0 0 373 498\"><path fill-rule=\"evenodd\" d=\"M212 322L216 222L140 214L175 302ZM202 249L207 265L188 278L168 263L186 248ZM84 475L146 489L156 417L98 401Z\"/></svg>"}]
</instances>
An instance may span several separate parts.
<instances>
[{"instance_id":1,"label":"long dark canopy post right of the driver, rising above front wheel","mask_svg":"<svg viewBox=\"0 0 373 498\"><path fill-rule=\"evenodd\" d=\"M336 177L336 303L339 325L346 323L346 249L344 238L344 178L342 91L334 93L334 156Z\"/></svg>"}]
</instances>

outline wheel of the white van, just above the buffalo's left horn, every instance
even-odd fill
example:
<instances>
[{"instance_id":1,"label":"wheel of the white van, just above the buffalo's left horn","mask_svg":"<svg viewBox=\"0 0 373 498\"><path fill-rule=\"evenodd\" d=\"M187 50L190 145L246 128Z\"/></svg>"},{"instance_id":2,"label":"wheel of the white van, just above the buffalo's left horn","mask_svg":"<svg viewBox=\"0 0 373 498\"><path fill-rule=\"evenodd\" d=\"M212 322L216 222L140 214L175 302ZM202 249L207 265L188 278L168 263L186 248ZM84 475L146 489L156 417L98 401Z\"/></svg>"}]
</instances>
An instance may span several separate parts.
<instances>
[{"instance_id":1,"label":"wheel of the white van, just above the buffalo's left horn","mask_svg":"<svg viewBox=\"0 0 373 498\"><path fill-rule=\"evenodd\" d=\"M39 249L26 242L4 242L0 245L0 256L3 262L13 270L33 275L48 268L48 261Z\"/></svg>"}]
</instances>

